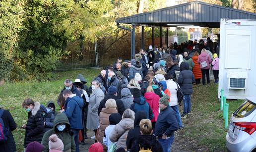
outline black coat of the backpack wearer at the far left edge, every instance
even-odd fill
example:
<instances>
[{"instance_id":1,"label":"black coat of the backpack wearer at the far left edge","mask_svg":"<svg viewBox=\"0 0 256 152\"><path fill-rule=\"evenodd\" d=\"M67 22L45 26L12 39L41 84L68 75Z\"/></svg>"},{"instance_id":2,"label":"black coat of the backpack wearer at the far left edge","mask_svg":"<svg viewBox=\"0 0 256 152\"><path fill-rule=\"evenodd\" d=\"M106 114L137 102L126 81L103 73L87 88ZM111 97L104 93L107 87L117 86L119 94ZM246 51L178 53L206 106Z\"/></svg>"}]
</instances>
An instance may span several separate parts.
<instances>
[{"instance_id":1,"label":"black coat of the backpack wearer at the far left edge","mask_svg":"<svg viewBox=\"0 0 256 152\"><path fill-rule=\"evenodd\" d=\"M16 145L11 132L16 129L17 125L8 110L3 111L2 121L4 126L9 129L9 133L7 141L0 144L0 152L15 152Z\"/></svg>"}]
</instances>

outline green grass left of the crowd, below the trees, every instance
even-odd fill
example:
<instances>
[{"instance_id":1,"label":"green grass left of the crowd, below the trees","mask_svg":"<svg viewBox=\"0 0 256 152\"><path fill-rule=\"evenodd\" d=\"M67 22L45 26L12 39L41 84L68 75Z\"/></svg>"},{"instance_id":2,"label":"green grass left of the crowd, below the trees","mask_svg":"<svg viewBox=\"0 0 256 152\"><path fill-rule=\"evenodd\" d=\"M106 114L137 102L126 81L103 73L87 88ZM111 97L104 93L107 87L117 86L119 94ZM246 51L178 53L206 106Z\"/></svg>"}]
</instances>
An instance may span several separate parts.
<instances>
[{"instance_id":1,"label":"green grass left of the crowd, below the trees","mask_svg":"<svg viewBox=\"0 0 256 152\"><path fill-rule=\"evenodd\" d=\"M88 84L91 80L99 74L100 70L85 69L85 70L69 70L59 72L56 81L52 82L26 82L26 83L5 83L0 87L0 106L8 109L15 122L17 129L13 131L13 136L16 142L17 151L23 150L24 133L23 129L19 127L26 123L27 112L21 107L22 102L26 98L31 98L34 101L46 104L48 101L55 101L56 106L57 98L60 91L64 88L64 80L71 79L74 81L77 74L83 74Z\"/></svg>"}]
</instances>

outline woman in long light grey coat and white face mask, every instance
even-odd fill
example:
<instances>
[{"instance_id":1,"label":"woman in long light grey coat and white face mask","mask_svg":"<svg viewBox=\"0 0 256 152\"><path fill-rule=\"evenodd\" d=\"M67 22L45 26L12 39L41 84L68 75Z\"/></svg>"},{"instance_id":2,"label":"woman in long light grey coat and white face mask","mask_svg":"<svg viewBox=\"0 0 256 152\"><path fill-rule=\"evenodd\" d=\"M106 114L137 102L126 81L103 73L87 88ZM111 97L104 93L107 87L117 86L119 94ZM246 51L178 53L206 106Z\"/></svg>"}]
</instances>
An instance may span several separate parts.
<instances>
[{"instance_id":1,"label":"woman in long light grey coat and white face mask","mask_svg":"<svg viewBox=\"0 0 256 152\"><path fill-rule=\"evenodd\" d=\"M86 128L92 129L96 136L97 129L100 124L100 119L98 116L98 107L100 101L104 99L104 93L101 90L101 84L98 80L93 80L91 87L92 94L89 98Z\"/></svg>"}]
</instances>

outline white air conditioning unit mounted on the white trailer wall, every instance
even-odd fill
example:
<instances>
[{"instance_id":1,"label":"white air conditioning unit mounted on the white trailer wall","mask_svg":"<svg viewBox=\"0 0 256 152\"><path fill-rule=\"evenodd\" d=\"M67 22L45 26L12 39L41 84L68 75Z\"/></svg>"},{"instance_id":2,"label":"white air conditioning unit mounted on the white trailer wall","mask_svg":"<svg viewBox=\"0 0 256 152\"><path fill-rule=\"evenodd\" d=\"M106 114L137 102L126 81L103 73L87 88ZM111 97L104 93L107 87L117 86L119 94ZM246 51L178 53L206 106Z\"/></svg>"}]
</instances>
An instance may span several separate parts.
<instances>
[{"instance_id":1,"label":"white air conditioning unit mounted on the white trailer wall","mask_svg":"<svg viewBox=\"0 0 256 152\"><path fill-rule=\"evenodd\" d=\"M247 72L228 71L228 89L246 90Z\"/></svg>"}]
</instances>

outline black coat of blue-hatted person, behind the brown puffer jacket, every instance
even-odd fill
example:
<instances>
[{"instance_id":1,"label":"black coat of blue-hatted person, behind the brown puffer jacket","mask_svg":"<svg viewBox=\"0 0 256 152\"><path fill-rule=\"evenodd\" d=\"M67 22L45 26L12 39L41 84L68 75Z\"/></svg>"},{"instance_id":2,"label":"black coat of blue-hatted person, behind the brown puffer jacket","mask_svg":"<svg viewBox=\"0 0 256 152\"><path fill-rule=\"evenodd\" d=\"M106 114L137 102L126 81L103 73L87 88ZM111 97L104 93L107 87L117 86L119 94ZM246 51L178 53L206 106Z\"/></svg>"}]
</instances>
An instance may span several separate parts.
<instances>
[{"instance_id":1,"label":"black coat of blue-hatted person, behind the brown puffer jacket","mask_svg":"<svg viewBox=\"0 0 256 152\"><path fill-rule=\"evenodd\" d=\"M123 103L123 101L121 101L117 96L115 95L110 95L107 94L104 99L102 101L100 101L100 105L98 108L98 115L100 116L100 112L102 110L102 108L106 107L105 104L107 102L108 99L114 99L117 103L117 108L118 108L118 113L120 113L121 115L123 115L124 111L126 110L125 105Z\"/></svg>"}]
</instances>

